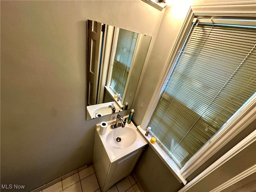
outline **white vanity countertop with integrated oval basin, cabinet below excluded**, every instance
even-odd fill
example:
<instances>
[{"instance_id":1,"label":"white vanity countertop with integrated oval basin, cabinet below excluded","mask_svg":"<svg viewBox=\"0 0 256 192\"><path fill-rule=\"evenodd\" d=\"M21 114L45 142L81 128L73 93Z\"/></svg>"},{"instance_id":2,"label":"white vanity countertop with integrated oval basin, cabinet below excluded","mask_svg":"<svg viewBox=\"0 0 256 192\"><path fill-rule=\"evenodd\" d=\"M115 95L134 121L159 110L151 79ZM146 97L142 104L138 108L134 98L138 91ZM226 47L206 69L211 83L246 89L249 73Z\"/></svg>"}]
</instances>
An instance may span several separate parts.
<instances>
[{"instance_id":1,"label":"white vanity countertop with integrated oval basin, cabinet below excluded","mask_svg":"<svg viewBox=\"0 0 256 192\"><path fill-rule=\"evenodd\" d=\"M128 116L124 118L128 118ZM96 134L100 136L100 140L102 141L111 162L148 144L132 122L130 124L126 123L125 127L111 129L110 126L115 122L115 120L108 121L106 133L103 135L100 134L100 124L96 125ZM118 142L116 140L117 138L120 138L121 140L118 140Z\"/></svg>"}]
</instances>

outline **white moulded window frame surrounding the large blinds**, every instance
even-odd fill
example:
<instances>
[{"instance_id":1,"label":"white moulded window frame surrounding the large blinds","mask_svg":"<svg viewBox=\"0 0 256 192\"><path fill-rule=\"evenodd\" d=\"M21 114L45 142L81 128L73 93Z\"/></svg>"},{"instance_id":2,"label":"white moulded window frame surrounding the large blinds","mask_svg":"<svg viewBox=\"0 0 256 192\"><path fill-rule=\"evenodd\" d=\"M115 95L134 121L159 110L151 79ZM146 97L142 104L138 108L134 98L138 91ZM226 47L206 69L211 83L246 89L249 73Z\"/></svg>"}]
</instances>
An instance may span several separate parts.
<instances>
[{"instance_id":1,"label":"white moulded window frame surrounding the large blinds","mask_svg":"<svg viewBox=\"0 0 256 192\"><path fill-rule=\"evenodd\" d=\"M232 4L223 3L222 5L208 5L208 6L192 6L188 11L188 14L185 18L184 24L180 30L178 38L172 48L170 56L168 58L168 62L165 65L164 72L158 81L156 90L152 96L146 114L142 120L138 129L142 134L145 132L146 126L150 121L150 118L154 112L154 109L160 99L162 91L164 90L164 85L168 80L170 72L175 64L175 61L182 49L182 46L186 40L190 32L190 28L192 27L192 21L194 18L198 17L229 17L229 18L253 18L255 19L255 4ZM234 11L235 10L235 11ZM220 150L225 144L227 144L234 136L236 136L239 132L241 132L248 124L250 124L254 119L256 119L256 114L254 112L254 108L256 108L256 94L254 94L253 98L246 102L243 105L243 108L236 112L232 119L226 124L225 128L220 130L217 134L215 134L210 142L205 144L181 169L172 161L168 160L169 155L165 152L159 143L152 145L149 144L156 151L158 156L163 160L163 162L168 166L168 168L172 171L174 176L182 182L184 185L186 184L186 178L190 176L196 169L198 169L202 164L204 164L210 157L212 157L218 150Z\"/></svg>"}]
</instances>

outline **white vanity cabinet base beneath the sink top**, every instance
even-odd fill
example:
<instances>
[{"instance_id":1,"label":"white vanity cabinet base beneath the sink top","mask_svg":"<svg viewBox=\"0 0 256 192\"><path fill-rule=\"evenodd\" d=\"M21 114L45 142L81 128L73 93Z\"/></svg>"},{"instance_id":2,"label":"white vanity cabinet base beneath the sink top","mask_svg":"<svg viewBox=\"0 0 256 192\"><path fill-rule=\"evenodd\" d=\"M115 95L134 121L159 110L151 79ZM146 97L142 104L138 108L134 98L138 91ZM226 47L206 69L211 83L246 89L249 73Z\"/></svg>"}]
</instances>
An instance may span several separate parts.
<instances>
[{"instance_id":1,"label":"white vanity cabinet base beneath the sink top","mask_svg":"<svg viewBox=\"0 0 256 192\"><path fill-rule=\"evenodd\" d=\"M144 146L111 162L96 130L93 166L101 192L106 192L116 182L132 172L143 148Z\"/></svg>"}]
</instances>

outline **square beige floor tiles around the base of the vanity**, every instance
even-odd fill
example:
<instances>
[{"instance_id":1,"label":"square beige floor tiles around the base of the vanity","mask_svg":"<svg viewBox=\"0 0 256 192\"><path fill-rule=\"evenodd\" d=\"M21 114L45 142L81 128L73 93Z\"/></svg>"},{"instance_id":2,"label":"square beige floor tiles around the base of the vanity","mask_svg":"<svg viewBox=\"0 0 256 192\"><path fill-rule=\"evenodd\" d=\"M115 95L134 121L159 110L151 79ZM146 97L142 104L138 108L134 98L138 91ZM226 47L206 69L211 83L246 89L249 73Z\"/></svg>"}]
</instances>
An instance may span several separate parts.
<instances>
[{"instance_id":1,"label":"square beige floor tiles around the base of the vanity","mask_svg":"<svg viewBox=\"0 0 256 192\"><path fill-rule=\"evenodd\" d=\"M100 192L93 166L89 166L40 192ZM140 192L132 175L120 180L107 192Z\"/></svg>"}]
</instances>

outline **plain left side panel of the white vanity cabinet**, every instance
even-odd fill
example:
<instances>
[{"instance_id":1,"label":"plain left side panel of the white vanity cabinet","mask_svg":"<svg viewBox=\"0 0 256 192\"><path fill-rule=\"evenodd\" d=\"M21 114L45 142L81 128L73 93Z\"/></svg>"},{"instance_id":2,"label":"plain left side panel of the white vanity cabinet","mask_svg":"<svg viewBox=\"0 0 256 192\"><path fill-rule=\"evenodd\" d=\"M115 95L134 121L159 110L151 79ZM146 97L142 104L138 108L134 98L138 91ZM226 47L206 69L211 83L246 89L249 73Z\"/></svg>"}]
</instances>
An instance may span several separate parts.
<instances>
[{"instance_id":1,"label":"plain left side panel of the white vanity cabinet","mask_svg":"<svg viewBox=\"0 0 256 192\"><path fill-rule=\"evenodd\" d=\"M108 174L108 169L110 167L110 160L108 154L100 140L100 136L97 133L95 134L94 141L94 153L93 153L93 166L100 185L101 191L103 191L106 177Z\"/></svg>"}]
</instances>

